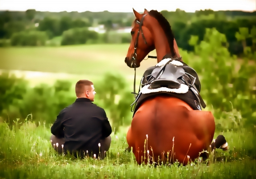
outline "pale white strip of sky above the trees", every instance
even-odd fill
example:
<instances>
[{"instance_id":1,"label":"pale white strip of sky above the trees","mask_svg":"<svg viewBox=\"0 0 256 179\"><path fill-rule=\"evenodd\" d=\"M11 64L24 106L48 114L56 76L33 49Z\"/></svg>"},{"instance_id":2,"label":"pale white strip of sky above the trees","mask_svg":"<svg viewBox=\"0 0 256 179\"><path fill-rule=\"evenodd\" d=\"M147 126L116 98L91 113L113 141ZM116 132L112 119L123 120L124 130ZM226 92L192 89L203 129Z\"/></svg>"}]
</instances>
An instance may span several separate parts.
<instances>
[{"instance_id":1,"label":"pale white strip of sky above the trees","mask_svg":"<svg viewBox=\"0 0 256 179\"><path fill-rule=\"evenodd\" d=\"M26 11L110 11L110 12L138 12L147 10L175 11L180 8L186 12L212 9L255 11L256 0L0 0L0 10Z\"/></svg>"}]
</instances>

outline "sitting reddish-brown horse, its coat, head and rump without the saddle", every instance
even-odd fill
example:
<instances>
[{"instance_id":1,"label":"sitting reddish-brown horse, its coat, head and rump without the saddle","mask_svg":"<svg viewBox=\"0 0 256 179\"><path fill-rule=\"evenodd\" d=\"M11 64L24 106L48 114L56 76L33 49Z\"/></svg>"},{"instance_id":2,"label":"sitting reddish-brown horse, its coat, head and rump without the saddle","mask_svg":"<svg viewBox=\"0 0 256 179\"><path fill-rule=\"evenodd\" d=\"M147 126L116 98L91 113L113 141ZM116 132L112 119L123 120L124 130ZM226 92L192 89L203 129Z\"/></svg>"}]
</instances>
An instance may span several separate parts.
<instances>
[{"instance_id":1,"label":"sitting reddish-brown horse, its coat, head and rump without the saddle","mask_svg":"<svg viewBox=\"0 0 256 179\"><path fill-rule=\"evenodd\" d=\"M125 58L127 66L139 67L154 49L158 62L164 57L180 57L170 24L162 14L146 9L143 14L133 11L136 19ZM211 112L193 110L176 97L157 95L139 106L126 138L139 164L177 160L186 165L188 160L199 157L200 152L209 150L214 130Z\"/></svg>"}]
</instances>

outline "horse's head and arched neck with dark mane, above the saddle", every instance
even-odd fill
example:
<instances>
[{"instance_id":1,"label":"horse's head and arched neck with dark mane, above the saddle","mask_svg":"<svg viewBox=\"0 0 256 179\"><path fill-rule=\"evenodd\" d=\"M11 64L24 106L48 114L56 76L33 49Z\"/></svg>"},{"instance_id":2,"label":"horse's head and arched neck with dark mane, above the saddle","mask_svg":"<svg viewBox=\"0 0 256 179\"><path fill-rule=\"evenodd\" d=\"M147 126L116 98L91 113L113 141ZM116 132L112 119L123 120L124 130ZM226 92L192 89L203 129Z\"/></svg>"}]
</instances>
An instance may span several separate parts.
<instances>
[{"instance_id":1,"label":"horse's head and arched neck with dark mane, above the saddle","mask_svg":"<svg viewBox=\"0 0 256 179\"><path fill-rule=\"evenodd\" d=\"M135 15L134 27L131 29L131 44L125 58L129 67L139 67L141 61L156 49L158 62L167 54L180 57L171 26L160 12L146 9L143 14L133 10ZM170 58L170 57L168 57Z\"/></svg>"}]
</instances>

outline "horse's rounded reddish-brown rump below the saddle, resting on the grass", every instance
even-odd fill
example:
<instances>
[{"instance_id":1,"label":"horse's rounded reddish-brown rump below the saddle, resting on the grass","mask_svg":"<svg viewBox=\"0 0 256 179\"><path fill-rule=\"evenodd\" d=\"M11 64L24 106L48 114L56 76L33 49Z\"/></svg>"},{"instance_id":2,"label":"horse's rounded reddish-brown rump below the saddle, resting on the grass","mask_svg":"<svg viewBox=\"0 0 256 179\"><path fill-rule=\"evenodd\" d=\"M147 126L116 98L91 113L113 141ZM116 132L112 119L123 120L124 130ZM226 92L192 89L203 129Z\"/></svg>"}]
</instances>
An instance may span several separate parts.
<instances>
[{"instance_id":1,"label":"horse's rounded reddish-brown rump below the saddle, resting on the grass","mask_svg":"<svg viewBox=\"0 0 256 179\"><path fill-rule=\"evenodd\" d=\"M193 159L207 149L214 130L212 113L192 110L175 97L156 96L145 101L135 113L127 142L133 152L137 152L137 161L141 160L139 153L144 153L144 140L148 135L147 149L151 152L152 147L155 157L166 157L167 151L171 152L174 147L175 158L181 162L187 152Z\"/></svg>"}]
</instances>

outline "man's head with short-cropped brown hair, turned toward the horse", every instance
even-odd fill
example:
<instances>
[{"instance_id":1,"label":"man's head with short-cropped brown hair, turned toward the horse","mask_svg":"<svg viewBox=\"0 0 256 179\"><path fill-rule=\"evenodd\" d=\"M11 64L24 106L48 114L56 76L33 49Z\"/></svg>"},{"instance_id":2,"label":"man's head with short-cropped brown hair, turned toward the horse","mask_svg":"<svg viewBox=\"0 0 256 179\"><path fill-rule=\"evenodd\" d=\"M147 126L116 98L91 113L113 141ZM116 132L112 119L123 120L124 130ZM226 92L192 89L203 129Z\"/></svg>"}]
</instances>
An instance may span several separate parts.
<instances>
[{"instance_id":1,"label":"man's head with short-cropped brown hair, turned toward the horse","mask_svg":"<svg viewBox=\"0 0 256 179\"><path fill-rule=\"evenodd\" d=\"M79 80L76 83L76 97L85 97L90 101L94 101L94 95L96 92L94 91L93 83L89 80Z\"/></svg>"}]
</instances>

